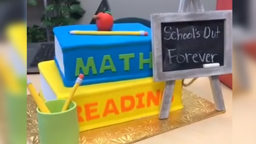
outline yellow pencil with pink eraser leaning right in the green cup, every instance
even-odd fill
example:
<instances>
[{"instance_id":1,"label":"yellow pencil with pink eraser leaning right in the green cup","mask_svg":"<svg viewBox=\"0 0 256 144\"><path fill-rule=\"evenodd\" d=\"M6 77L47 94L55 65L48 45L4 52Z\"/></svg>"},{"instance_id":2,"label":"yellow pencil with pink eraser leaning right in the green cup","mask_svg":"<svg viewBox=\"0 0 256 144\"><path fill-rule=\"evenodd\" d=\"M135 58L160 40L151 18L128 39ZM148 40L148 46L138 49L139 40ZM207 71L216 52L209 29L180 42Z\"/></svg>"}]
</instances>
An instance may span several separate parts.
<instances>
[{"instance_id":1,"label":"yellow pencil with pink eraser leaning right in the green cup","mask_svg":"<svg viewBox=\"0 0 256 144\"><path fill-rule=\"evenodd\" d=\"M72 88L72 91L71 91L71 93L70 93L70 95L69 95L67 101L65 102L63 108L62 108L62 111L67 110L67 108L68 108L70 102L72 101L72 99L73 99L73 97L74 97L74 94L75 94L76 89L77 89L78 86L82 83L83 79L84 79L84 75L83 75L83 74L79 74L79 76L77 77L77 79L76 79L76 81L75 81L75 84L74 84L74 86L73 86L73 88Z\"/></svg>"}]
</instances>

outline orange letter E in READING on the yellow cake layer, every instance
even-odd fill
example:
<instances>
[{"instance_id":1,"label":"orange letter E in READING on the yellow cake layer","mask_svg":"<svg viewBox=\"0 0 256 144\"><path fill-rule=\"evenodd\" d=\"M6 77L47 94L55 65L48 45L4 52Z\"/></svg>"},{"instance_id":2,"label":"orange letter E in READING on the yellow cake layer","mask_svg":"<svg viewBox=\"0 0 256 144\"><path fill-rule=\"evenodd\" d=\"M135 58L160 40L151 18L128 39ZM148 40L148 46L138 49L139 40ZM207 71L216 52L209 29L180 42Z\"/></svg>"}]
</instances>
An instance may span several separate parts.
<instances>
[{"instance_id":1,"label":"orange letter E in READING on the yellow cake layer","mask_svg":"<svg viewBox=\"0 0 256 144\"><path fill-rule=\"evenodd\" d=\"M100 115L92 115L92 113L97 112L98 109L97 108L91 108L93 106L98 106L98 103L90 103L90 104L85 104L85 116L86 116L86 120L93 120L93 119L97 119L100 118Z\"/></svg>"}]
</instances>

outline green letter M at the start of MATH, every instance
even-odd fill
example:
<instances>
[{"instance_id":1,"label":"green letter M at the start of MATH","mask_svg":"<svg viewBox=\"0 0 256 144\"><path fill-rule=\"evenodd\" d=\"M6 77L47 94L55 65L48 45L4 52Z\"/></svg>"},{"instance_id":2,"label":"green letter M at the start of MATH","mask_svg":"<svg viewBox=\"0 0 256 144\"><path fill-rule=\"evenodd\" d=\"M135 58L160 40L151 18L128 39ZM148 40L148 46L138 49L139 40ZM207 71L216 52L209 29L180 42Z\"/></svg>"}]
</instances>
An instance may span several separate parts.
<instances>
[{"instance_id":1,"label":"green letter M at the start of MATH","mask_svg":"<svg viewBox=\"0 0 256 144\"><path fill-rule=\"evenodd\" d=\"M84 75L89 75L90 68L92 68L93 74L97 74L93 57L89 57L87 59L86 66L84 65L82 58L77 58L75 66L75 76L78 76L80 74L80 69L82 69Z\"/></svg>"}]
</instances>

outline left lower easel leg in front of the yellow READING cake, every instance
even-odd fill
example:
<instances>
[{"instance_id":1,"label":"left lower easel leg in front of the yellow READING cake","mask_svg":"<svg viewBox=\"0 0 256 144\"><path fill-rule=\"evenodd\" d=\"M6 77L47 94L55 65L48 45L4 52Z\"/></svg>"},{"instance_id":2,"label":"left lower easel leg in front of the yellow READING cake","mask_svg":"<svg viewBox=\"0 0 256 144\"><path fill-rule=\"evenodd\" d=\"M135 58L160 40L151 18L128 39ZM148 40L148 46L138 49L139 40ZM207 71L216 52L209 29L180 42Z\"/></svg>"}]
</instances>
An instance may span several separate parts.
<instances>
[{"instance_id":1,"label":"left lower easel leg in front of the yellow READING cake","mask_svg":"<svg viewBox=\"0 0 256 144\"><path fill-rule=\"evenodd\" d=\"M159 119L166 119L169 117L171 100L174 90L175 80L167 81L162 96Z\"/></svg>"}]
</instances>

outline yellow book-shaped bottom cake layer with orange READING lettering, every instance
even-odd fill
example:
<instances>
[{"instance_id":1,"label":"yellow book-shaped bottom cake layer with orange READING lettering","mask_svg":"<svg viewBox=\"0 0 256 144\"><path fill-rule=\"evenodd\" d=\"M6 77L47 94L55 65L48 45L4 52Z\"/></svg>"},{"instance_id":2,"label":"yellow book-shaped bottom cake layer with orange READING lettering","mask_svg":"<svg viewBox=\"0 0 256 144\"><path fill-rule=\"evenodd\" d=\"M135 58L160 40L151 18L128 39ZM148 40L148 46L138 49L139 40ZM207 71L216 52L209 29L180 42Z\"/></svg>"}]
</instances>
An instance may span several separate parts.
<instances>
[{"instance_id":1,"label":"yellow book-shaped bottom cake layer with orange READING lettering","mask_svg":"<svg viewBox=\"0 0 256 144\"><path fill-rule=\"evenodd\" d=\"M54 61L40 63L39 70L58 99L68 97L71 88L64 87ZM80 86L74 98L80 131L158 114L164 86L152 77ZM178 80L171 111L183 108L181 96L182 83Z\"/></svg>"}]
</instances>

